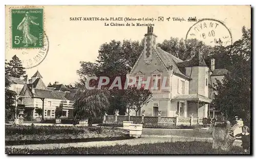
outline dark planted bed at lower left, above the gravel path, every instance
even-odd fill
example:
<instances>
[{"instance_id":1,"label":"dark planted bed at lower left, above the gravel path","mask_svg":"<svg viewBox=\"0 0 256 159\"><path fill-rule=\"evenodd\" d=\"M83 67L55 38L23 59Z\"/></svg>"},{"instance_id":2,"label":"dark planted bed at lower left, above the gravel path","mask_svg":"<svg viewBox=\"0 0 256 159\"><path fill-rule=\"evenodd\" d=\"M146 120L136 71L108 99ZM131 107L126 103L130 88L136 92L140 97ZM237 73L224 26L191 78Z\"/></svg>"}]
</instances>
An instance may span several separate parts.
<instances>
[{"instance_id":1,"label":"dark planted bed at lower left, above the gravel path","mask_svg":"<svg viewBox=\"0 0 256 159\"><path fill-rule=\"evenodd\" d=\"M6 126L5 145L72 143L130 139L129 131L87 126Z\"/></svg>"}]
</instances>

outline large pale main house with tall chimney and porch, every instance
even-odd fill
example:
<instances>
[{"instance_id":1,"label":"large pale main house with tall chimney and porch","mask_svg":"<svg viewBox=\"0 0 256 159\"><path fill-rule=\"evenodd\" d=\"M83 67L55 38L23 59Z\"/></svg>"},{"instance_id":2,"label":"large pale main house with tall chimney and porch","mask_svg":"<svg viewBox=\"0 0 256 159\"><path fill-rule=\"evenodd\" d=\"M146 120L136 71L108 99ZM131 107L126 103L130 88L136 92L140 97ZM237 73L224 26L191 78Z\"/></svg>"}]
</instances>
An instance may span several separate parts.
<instances>
[{"instance_id":1,"label":"large pale main house with tall chimney and porch","mask_svg":"<svg viewBox=\"0 0 256 159\"><path fill-rule=\"evenodd\" d=\"M137 80L151 77L150 85L158 86L158 89L151 90L153 97L139 114L144 109L145 116L157 116L161 111L161 116L165 117L192 115L207 118L210 115L208 111L214 111L210 109L212 85L216 78L223 79L228 71L215 69L215 59L211 59L208 67L200 53L183 61L157 47L156 38L153 27L148 27L144 50L127 75ZM165 86L169 87L166 89L162 89L164 77L167 78Z\"/></svg>"}]
</instances>

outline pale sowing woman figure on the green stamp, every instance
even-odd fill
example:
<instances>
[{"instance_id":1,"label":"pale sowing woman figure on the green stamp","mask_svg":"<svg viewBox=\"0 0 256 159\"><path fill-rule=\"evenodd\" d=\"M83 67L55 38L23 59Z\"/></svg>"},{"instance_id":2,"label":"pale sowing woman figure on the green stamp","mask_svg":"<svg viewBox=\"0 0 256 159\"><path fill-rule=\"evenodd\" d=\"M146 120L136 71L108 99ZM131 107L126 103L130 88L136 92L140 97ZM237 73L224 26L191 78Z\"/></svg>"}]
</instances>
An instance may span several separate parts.
<instances>
[{"instance_id":1,"label":"pale sowing woman figure on the green stamp","mask_svg":"<svg viewBox=\"0 0 256 159\"><path fill-rule=\"evenodd\" d=\"M29 15L29 12L26 12L25 17L23 18L22 22L19 23L17 30L23 31L23 43L25 43L24 47L28 47L29 44L34 44L36 46L37 37L30 33L30 25L37 25L38 23L34 22L33 20L37 17Z\"/></svg>"}]
</instances>

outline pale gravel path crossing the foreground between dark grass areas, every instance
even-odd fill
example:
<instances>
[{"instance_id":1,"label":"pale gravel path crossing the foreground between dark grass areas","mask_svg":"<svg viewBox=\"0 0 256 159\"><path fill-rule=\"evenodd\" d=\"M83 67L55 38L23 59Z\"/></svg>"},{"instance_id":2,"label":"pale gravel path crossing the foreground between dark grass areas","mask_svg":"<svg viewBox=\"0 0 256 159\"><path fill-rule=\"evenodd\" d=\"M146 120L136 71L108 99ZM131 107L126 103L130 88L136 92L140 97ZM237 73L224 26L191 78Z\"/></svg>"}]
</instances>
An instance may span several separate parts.
<instances>
[{"instance_id":1,"label":"pale gravel path crossing the foreground between dark grass areas","mask_svg":"<svg viewBox=\"0 0 256 159\"><path fill-rule=\"evenodd\" d=\"M163 142L177 142L177 141L206 141L212 142L211 138L191 138L181 137L178 135L143 135L141 138L119 140L119 141L100 141L100 142L85 142L85 143L67 143L67 144L35 144L35 145L15 145L6 146L13 148L29 148L29 149L54 149L61 147L102 147L102 146L114 146L114 145L138 145L145 143L163 143ZM236 140L233 145L240 146L241 141Z\"/></svg>"}]
</instances>

